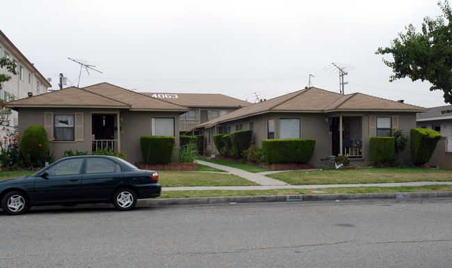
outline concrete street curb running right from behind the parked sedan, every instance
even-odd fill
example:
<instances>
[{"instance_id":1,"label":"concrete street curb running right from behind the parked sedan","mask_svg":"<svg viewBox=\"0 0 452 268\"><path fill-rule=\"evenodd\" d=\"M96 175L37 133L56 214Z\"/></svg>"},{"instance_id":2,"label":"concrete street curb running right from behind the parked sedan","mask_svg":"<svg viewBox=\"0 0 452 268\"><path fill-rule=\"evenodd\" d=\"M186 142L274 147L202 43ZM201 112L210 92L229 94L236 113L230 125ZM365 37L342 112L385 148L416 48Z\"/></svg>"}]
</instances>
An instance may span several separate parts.
<instances>
[{"instance_id":1,"label":"concrete street curb running right from behind the parked sedan","mask_svg":"<svg viewBox=\"0 0 452 268\"><path fill-rule=\"evenodd\" d=\"M452 191L390 194L302 194L293 196L228 196L201 198L140 199L137 207L154 205L213 205L231 203L275 203L327 200L452 198Z\"/></svg>"}]
</instances>

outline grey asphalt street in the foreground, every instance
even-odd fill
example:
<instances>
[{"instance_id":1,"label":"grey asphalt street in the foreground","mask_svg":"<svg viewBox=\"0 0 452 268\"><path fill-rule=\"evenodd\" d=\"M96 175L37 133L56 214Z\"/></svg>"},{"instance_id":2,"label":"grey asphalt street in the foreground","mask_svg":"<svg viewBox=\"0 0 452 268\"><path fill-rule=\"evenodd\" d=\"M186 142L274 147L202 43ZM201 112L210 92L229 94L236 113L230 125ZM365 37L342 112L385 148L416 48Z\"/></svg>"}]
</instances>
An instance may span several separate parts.
<instances>
[{"instance_id":1,"label":"grey asphalt street in the foreground","mask_svg":"<svg viewBox=\"0 0 452 268\"><path fill-rule=\"evenodd\" d=\"M452 198L0 214L0 267L450 267Z\"/></svg>"}]
</instances>

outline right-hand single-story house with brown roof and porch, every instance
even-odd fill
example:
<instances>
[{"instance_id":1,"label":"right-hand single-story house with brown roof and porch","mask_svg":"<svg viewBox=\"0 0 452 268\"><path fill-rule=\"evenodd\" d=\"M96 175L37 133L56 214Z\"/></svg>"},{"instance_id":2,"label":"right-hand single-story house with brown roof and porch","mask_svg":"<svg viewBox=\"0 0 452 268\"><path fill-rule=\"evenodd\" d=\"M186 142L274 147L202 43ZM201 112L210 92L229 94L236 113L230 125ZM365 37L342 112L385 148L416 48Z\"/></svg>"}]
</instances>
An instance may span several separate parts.
<instances>
[{"instance_id":1,"label":"right-hand single-story house with brown roof and porch","mask_svg":"<svg viewBox=\"0 0 452 268\"><path fill-rule=\"evenodd\" d=\"M197 126L209 134L207 153L218 154L211 136L251 129L252 143L261 147L263 139L315 139L316 167L322 158L346 155L356 166L370 164L370 138L387 136L391 128L409 136L416 127L416 113L428 109L385 100L362 93L341 95L320 88L305 88L271 100L243 107L225 116ZM410 157L410 148L401 161Z\"/></svg>"}]
</instances>

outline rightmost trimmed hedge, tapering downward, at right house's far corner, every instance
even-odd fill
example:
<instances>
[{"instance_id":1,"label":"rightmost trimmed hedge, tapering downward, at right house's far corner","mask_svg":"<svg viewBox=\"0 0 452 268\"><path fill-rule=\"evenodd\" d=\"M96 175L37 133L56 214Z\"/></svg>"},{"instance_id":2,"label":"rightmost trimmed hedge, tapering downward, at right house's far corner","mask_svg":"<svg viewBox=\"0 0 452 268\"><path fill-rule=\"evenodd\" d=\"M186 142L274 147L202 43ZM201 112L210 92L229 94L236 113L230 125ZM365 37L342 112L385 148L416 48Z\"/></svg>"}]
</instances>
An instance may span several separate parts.
<instances>
[{"instance_id":1,"label":"rightmost trimmed hedge, tapering downward, at right house's far corner","mask_svg":"<svg viewBox=\"0 0 452 268\"><path fill-rule=\"evenodd\" d=\"M433 129L413 128L410 130L410 136L411 161L417 166L426 164L442 135Z\"/></svg>"}]
</instances>

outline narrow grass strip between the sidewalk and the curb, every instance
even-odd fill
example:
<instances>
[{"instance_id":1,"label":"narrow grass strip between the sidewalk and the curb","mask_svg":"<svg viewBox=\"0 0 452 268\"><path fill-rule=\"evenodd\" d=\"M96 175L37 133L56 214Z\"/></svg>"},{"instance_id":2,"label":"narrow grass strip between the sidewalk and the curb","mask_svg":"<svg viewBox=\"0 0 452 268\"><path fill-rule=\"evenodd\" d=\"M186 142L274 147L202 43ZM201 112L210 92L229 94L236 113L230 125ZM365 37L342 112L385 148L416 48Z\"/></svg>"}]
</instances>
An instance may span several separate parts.
<instances>
[{"instance_id":1,"label":"narrow grass strip between the sidewalk and the curb","mask_svg":"<svg viewBox=\"0 0 452 268\"><path fill-rule=\"evenodd\" d=\"M318 193L321 191L322 193ZM271 190L205 190L205 191L162 191L159 198L194 198L225 196L286 196L295 194L371 194L452 191L452 185L424 185L405 187L344 187L318 189L271 189Z\"/></svg>"}]
</instances>

